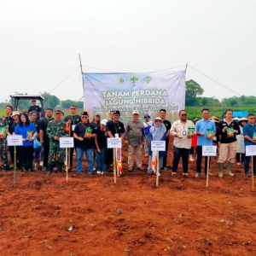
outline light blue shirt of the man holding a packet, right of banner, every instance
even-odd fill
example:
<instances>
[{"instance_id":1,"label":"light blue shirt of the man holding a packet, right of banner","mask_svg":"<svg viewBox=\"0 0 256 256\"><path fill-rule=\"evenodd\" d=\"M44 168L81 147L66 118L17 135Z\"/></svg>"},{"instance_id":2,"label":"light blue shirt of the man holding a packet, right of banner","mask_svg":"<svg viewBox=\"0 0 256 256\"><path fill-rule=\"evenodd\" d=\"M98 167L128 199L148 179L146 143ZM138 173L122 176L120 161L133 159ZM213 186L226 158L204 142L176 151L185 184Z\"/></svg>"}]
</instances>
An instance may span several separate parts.
<instances>
[{"instance_id":1,"label":"light blue shirt of the man holding a packet, right of banner","mask_svg":"<svg viewBox=\"0 0 256 256\"><path fill-rule=\"evenodd\" d=\"M216 126L211 119L208 119L207 121L205 119L201 119L196 123L195 130L205 134L203 136L197 136L198 146L212 146L212 140L207 139L207 129L216 132Z\"/></svg>"}]
</instances>

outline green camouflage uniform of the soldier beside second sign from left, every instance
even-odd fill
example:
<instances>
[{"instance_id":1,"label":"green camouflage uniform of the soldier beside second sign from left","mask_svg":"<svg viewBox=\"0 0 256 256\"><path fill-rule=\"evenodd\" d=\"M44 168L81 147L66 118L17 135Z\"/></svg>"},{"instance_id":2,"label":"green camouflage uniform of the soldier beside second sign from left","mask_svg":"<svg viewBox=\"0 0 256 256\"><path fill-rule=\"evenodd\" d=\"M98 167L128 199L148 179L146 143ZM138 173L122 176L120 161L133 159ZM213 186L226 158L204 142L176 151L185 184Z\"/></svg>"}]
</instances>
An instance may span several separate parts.
<instances>
[{"instance_id":1,"label":"green camouflage uniform of the soldier beside second sign from left","mask_svg":"<svg viewBox=\"0 0 256 256\"><path fill-rule=\"evenodd\" d=\"M61 172L61 167L65 161L65 148L60 148L60 142L54 140L54 137L67 137L65 131L65 122L63 120L51 120L47 125L47 136L49 137L49 173L52 172L57 157L58 172Z\"/></svg>"}]
</instances>

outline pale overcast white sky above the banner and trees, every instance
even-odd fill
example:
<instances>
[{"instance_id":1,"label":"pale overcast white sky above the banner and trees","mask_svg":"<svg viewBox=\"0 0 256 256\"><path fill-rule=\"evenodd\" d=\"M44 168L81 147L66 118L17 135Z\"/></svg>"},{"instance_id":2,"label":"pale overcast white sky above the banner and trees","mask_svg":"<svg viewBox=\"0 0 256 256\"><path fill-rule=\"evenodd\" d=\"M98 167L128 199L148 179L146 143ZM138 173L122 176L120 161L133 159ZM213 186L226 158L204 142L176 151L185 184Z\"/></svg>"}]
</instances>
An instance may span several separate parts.
<instances>
[{"instance_id":1,"label":"pale overcast white sky above the banner and trees","mask_svg":"<svg viewBox=\"0 0 256 256\"><path fill-rule=\"evenodd\" d=\"M189 63L186 79L203 96L255 96L255 9L255 0L0 0L0 102L44 91L78 101L79 54L84 72Z\"/></svg>"}]
</instances>

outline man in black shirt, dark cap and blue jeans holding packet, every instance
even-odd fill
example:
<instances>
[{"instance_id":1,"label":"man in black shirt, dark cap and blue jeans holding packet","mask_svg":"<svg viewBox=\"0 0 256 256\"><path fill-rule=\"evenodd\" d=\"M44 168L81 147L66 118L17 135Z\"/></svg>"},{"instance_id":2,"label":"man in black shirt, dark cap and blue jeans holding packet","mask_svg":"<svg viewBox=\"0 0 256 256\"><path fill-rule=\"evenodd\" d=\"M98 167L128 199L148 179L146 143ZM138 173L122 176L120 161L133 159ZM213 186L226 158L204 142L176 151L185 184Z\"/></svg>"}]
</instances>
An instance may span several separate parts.
<instances>
[{"instance_id":1,"label":"man in black shirt, dark cap and blue jeans holding packet","mask_svg":"<svg viewBox=\"0 0 256 256\"><path fill-rule=\"evenodd\" d=\"M93 174L93 162L92 162L92 147L93 141L91 138L96 137L95 127L89 122L89 115L87 112L81 113L81 123L76 125L73 131L73 138L76 143L77 154L77 174L81 174L83 171L82 162L84 153L88 162L88 174Z\"/></svg>"}]
</instances>

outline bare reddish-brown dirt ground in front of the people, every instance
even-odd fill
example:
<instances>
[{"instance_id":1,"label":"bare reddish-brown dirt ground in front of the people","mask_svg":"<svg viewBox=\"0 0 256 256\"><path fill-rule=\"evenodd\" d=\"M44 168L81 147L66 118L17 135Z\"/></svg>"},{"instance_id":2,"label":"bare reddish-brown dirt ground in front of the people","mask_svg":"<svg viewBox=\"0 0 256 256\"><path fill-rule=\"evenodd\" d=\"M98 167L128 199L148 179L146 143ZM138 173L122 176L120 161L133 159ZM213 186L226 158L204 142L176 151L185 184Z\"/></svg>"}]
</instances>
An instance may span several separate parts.
<instances>
[{"instance_id":1,"label":"bare reddish-brown dirt ground in front of the people","mask_svg":"<svg viewBox=\"0 0 256 256\"><path fill-rule=\"evenodd\" d=\"M65 172L18 172L14 184L13 171L1 172L0 255L256 255L252 179L242 166L220 179L215 160L210 171L208 188L195 161L187 178L181 165L175 177L161 172L159 187L137 170L116 184L111 173L75 171L68 183Z\"/></svg>"}]
</instances>

